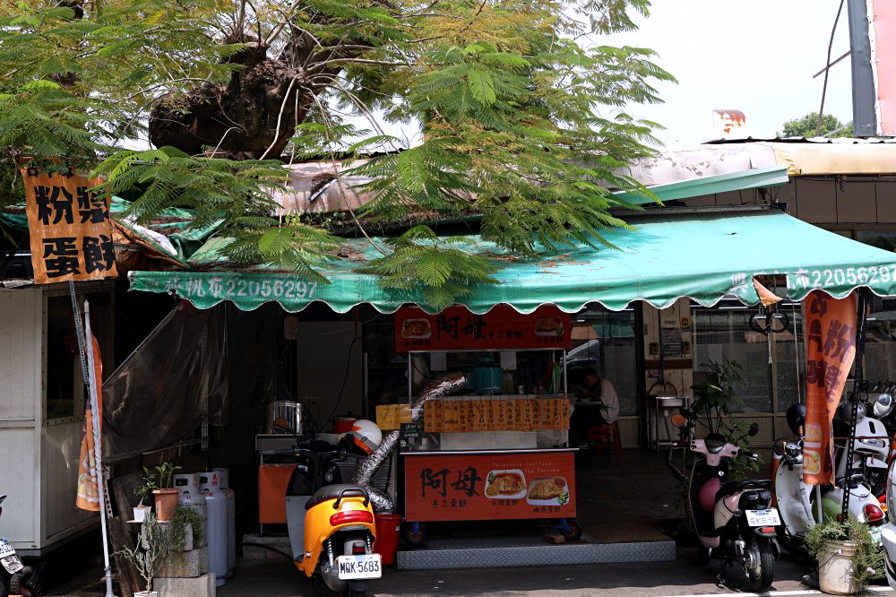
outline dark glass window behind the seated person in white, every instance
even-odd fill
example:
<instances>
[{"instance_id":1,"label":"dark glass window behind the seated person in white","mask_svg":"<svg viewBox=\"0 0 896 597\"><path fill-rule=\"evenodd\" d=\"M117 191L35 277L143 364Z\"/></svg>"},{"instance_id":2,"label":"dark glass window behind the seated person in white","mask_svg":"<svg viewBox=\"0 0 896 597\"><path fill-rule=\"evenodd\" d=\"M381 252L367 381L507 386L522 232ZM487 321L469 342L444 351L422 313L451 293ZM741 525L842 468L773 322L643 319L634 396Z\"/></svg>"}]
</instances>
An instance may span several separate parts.
<instances>
[{"instance_id":1,"label":"dark glass window behind the seated person in white","mask_svg":"<svg viewBox=\"0 0 896 597\"><path fill-rule=\"evenodd\" d=\"M591 307L574 315L573 348L569 351L569 389L582 383L582 370L594 368L609 380L619 397L619 414L638 414L638 359L634 311Z\"/></svg>"}]
</instances>

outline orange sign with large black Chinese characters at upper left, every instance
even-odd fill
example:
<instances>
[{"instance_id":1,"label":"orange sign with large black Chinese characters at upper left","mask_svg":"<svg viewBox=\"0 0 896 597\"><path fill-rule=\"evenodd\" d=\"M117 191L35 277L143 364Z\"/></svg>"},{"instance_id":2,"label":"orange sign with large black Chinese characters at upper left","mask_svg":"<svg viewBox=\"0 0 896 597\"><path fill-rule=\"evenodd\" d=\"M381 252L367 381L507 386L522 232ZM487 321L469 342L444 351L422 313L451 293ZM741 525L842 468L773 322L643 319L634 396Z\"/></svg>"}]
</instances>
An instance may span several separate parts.
<instances>
[{"instance_id":1,"label":"orange sign with large black Chinese characters at upper left","mask_svg":"<svg viewBox=\"0 0 896 597\"><path fill-rule=\"evenodd\" d=\"M22 168L34 282L100 280L118 275L108 198L101 182Z\"/></svg>"}]
</instances>

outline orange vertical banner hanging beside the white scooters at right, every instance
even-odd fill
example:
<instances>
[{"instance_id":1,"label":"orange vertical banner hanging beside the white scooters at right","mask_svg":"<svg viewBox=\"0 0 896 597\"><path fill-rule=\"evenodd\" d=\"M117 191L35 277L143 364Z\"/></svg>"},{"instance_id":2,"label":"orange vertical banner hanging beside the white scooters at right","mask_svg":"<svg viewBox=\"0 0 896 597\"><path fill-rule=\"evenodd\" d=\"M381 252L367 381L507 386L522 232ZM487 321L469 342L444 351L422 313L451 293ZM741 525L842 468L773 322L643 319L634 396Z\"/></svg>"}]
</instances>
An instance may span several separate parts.
<instances>
[{"instance_id":1,"label":"orange vertical banner hanging beside the white scooters at right","mask_svg":"<svg viewBox=\"0 0 896 597\"><path fill-rule=\"evenodd\" d=\"M813 290L803 301L806 333L806 437L803 480L833 485L832 422L856 359L857 295L831 299Z\"/></svg>"}]
</instances>

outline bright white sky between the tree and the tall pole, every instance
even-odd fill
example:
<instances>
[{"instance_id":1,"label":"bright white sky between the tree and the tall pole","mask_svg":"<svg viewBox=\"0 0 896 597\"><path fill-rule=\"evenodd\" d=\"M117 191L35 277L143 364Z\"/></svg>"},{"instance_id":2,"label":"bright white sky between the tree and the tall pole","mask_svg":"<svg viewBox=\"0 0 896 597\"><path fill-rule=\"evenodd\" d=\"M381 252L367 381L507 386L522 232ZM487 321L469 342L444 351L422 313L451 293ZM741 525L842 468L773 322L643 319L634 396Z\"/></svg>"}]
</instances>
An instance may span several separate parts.
<instances>
[{"instance_id":1,"label":"bright white sky between the tree and the tall pole","mask_svg":"<svg viewBox=\"0 0 896 597\"><path fill-rule=\"evenodd\" d=\"M652 48L678 84L659 86L665 104L632 106L635 117L665 125L666 146L700 143L716 108L739 109L748 134L772 137L793 118L818 111L837 0L655 0L632 33L603 44ZM849 49L844 5L831 60ZM849 58L831 68L824 113L852 120Z\"/></svg>"}]
</instances>

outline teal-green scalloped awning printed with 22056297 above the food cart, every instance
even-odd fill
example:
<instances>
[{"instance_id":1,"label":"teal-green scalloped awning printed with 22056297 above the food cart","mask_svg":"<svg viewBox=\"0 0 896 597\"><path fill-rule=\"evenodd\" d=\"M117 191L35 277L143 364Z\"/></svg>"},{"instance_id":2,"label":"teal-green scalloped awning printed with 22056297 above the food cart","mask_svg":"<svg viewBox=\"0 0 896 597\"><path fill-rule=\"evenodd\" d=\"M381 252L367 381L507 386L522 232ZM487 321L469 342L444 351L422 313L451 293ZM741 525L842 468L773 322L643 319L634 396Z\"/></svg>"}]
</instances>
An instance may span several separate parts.
<instances>
[{"instance_id":1,"label":"teal-green scalloped awning printed with 22056297 above the food cart","mask_svg":"<svg viewBox=\"0 0 896 597\"><path fill-rule=\"evenodd\" d=\"M501 283L472 289L459 302L476 313L508 304L521 313L555 304L567 312L588 303L619 310L642 300L668 307L688 297L709 307L720 299L745 304L759 301L755 274L786 273L789 299L801 300L813 289L841 298L858 286L880 296L896 296L896 254L816 228L777 209L650 210L626 217L635 230L616 229L607 247L574 247L543 260L507 255L492 243L471 236L467 250L487 255L502 269ZM322 301L340 313L367 303L391 313L407 303L425 309L418 292L383 290L374 275L357 273L378 255L365 240L347 241L346 255L324 274L328 285L295 274L264 271L179 271L131 273L131 288L173 292L196 307L232 301L249 310L274 301L290 312Z\"/></svg>"}]
</instances>

